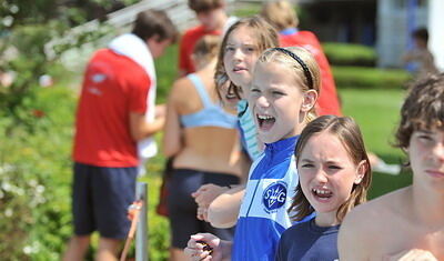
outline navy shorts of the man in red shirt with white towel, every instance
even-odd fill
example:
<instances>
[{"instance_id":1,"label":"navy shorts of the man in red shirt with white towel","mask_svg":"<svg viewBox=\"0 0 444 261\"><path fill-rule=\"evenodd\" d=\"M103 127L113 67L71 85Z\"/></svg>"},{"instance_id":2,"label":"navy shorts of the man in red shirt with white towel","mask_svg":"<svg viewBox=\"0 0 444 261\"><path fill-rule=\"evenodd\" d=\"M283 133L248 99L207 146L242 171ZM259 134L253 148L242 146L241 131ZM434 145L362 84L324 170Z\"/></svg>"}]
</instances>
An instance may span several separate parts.
<instances>
[{"instance_id":1,"label":"navy shorts of the man in red shirt with white towel","mask_svg":"<svg viewBox=\"0 0 444 261\"><path fill-rule=\"evenodd\" d=\"M74 163L72 213L74 233L99 231L110 239L124 239L130 230L128 207L135 198L137 168L104 168Z\"/></svg>"}]
</instances>

